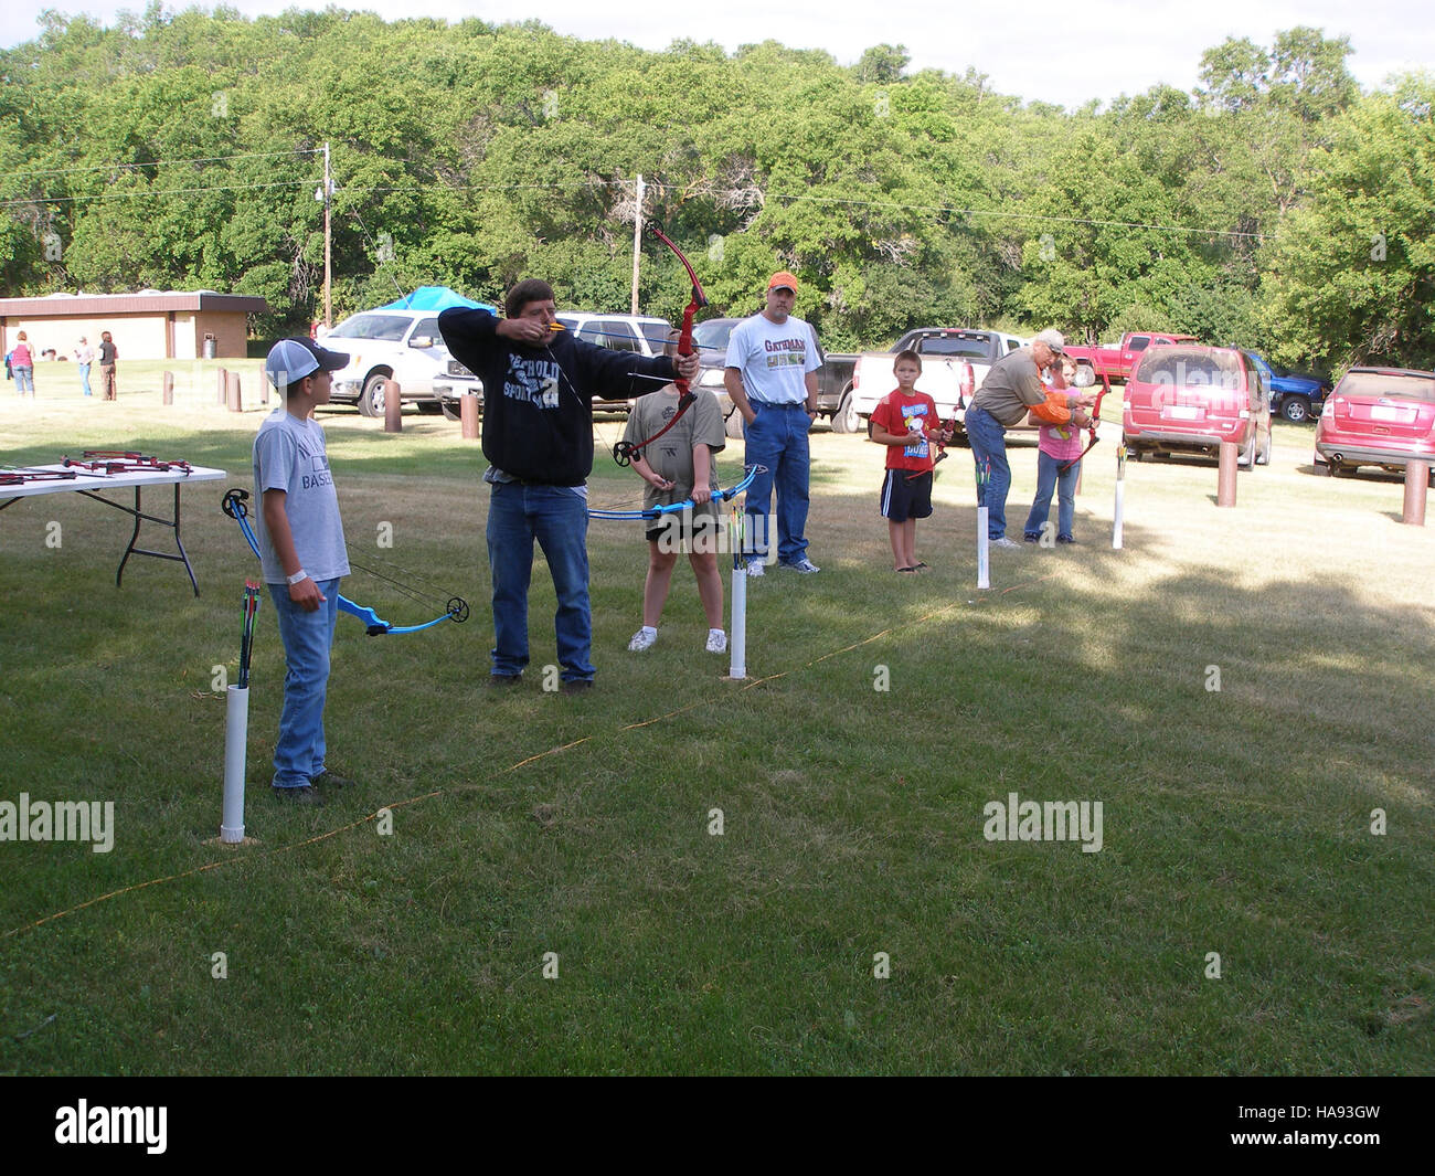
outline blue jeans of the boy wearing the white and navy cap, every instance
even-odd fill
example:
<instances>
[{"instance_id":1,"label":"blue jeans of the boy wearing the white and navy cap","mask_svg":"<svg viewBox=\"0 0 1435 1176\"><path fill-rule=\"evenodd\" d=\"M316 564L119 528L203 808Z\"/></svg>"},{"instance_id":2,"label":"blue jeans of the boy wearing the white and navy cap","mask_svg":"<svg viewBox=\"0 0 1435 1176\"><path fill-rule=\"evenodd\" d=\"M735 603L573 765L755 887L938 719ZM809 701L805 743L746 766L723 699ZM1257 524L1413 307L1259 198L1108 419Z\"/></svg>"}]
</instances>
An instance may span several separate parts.
<instances>
[{"instance_id":1,"label":"blue jeans of the boy wearing the white and navy cap","mask_svg":"<svg viewBox=\"0 0 1435 1176\"><path fill-rule=\"evenodd\" d=\"M284 709L274 745L274 787L303 788L324 770L324 695L329 646L339 619L339 580L324 580L324 603L307 613L288 599L288 584L268 584L284 642Z\"/></svg>"}]
</instances>

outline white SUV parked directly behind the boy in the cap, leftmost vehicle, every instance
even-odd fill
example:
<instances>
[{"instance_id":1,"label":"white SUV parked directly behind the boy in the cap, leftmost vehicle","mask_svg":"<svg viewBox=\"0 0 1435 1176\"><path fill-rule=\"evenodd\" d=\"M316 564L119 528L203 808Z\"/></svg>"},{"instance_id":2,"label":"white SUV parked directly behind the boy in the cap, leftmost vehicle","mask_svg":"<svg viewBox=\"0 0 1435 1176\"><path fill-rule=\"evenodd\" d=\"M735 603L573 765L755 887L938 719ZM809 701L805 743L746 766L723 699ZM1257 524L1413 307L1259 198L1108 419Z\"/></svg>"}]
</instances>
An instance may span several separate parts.
<instances>
[{"instance_id":1,"label":"white SUV parked directly behind the boy in the cap, leftmost vehicle","mask_svg":"<svg viewBox=\"0 0 1435 1176\"><path fill-rule=\"evenodd\" d=\"M383 382L392 379L419 412L439 411L433 381L446 378L449 352L436 310L364 310L344 319L321 343L349 353L349 366L334 372L330 399L336 403L357 403L364 416L383 416Z\"/></svg>"}]
</instances>

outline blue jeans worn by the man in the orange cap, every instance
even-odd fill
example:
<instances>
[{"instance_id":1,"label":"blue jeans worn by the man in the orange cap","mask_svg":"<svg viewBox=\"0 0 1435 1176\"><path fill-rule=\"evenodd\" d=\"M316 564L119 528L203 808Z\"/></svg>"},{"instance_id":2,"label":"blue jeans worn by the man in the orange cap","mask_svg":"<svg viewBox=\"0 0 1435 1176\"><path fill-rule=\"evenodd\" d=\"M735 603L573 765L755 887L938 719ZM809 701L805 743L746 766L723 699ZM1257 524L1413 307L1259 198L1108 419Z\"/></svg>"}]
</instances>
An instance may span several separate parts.
<instances>
[{"instance_id":1,"label":"blue jeans worn by the man in the orange cap","mask_svg":"<svg viewBox=\"0 0 1435 1176\"><path fill-rule=\"evenodd\" d=\"M805 405L778 408L753 405L756 416L742 426L748 465L765 465L766 474L753 478L748 488L748 538L743 550L751 556L771 551L768 500L778 493L778 559L796 563L806 556L806 513L811 451L808 429L812 418Z\"/></svg>"}]
</instances>

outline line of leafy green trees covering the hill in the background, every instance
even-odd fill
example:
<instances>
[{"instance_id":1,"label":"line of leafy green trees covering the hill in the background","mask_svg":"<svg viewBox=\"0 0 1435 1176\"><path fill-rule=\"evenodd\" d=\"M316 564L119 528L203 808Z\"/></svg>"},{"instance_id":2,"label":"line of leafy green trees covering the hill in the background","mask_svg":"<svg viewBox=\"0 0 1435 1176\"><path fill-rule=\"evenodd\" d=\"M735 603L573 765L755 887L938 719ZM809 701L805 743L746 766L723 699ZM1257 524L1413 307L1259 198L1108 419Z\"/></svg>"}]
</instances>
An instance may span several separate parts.
<instances>
[{"instance_id":1,"label":"line of leafy green trees covering the hill in the background","mask_svg":"<svg viewBox=\"0 0 1435 1176\"><path fill-rule=\"evenodd\" d=\"M766 276L834 350L923 325L1180 330L1320 369L1435 365L1429 75L1362 92L1345 39L1228 39L1191 90L1068 111L775 42L581 42L537 22L47 11L0 53L4 294L260 294L307 327L331 145L336 316L422 284L629 304L643 215L713 310ZM640 306L687 284L644 254Z\"/></svg>"}]
</instances>

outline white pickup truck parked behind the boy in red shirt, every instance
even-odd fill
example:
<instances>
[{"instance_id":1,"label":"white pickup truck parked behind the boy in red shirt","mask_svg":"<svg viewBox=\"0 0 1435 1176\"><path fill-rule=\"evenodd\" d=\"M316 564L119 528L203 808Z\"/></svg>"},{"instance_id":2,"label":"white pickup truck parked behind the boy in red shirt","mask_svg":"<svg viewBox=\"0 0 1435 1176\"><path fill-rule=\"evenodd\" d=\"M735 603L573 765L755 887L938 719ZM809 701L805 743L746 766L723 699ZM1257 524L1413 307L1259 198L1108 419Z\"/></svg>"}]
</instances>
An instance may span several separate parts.
<instances>
[{"instance_id":1,"label":"white pickup truck parked behind the boy in red shirt","mask_svg":"<svg viewBox=\"0 0 1435 1176\"><path fill-rule=\"evenodd\" d=\"M857 358L852 392L844 401L838 418L834 418L832 428L837 432L855 432L862 426L861 418L870 418L877 402L897 386L893 368L897 353L905 350L921 356L917 391L931 396L941 419L956 421L960 425L971 393L982 385L992 365L1025 345L1025 339L999 330L966 327L908 330L890 350L865 352Z\"/></svg>"}]
</instances>

